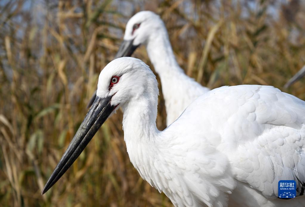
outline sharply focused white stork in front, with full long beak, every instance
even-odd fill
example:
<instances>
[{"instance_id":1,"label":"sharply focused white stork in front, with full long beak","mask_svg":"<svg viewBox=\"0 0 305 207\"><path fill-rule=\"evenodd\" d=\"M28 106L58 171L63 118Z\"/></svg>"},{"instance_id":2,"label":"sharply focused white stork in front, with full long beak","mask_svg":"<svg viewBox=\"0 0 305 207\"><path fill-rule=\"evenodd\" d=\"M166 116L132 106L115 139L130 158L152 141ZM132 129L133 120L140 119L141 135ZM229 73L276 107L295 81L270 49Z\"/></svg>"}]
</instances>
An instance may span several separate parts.
<instances>
[{"instance_id":1,"label":"sharply focused white stork in front, with full long beak","mask_svg":"<svg viewBox=\"0 0 305 207\"><path fill-rule=\"evenodd\" d=\"M121 107L130 161L175 206L304 206L304 101L272 86L224 86L197 98L159 131L157 100L156 77L141 60L110 62L42 194ZM279 180L295 180L297 197L279 199Z\"/></svg>"}]
</instances>

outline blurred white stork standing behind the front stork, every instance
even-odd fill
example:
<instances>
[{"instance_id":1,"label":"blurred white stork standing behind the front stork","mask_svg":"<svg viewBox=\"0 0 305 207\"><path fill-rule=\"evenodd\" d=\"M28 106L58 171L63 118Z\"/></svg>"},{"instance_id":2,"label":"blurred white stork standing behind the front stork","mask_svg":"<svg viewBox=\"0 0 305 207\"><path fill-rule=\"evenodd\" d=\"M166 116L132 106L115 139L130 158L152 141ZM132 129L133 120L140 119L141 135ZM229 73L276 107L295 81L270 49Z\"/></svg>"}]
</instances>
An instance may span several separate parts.
<instances>
[{"instance_id":1,"label":"blurred white stork standing behind the front stork","mask_svg":"<svg viewBox=\"0 0 305 207\"><path fill-rule=\"evenodd\" d=\"M115 58L131 56L141 44L146 46L149 59L160 76L168 126L193 100L210 89L184 73L175 59L163 21L151 11L138 12L131 17ZM94 99L95 95L89 105Z\"/></svg>"}]
</instances>

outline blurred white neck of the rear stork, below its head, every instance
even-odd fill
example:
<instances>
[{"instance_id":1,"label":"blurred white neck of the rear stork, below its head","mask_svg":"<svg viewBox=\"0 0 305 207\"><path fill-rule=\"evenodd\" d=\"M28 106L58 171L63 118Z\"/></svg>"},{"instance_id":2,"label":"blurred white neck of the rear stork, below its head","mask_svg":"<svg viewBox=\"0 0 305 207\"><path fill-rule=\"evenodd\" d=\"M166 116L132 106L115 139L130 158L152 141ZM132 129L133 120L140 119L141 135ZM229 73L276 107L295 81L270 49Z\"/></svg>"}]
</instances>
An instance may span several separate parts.
<instances>
[{"instance_id":1,"label":"blurred white neck of the rear stork, below its head","mask_svg":"<svg viewBox=\"0 0 305 207\"><path fill-rule=\"evenodd\" d=\"M163 23L158 31L149 36L146 49L155 71L160 76L168 126L193 100L209 89L188 77L179 67Z\"/></svg>"}]
</instances>

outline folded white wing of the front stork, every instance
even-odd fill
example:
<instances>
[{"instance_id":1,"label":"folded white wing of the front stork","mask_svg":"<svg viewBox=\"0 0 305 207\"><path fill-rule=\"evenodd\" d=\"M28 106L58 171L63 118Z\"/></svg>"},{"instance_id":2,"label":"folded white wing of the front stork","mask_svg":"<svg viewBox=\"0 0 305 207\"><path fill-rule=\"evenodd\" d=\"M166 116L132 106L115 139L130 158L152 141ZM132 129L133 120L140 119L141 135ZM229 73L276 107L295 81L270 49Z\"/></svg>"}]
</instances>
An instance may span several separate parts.
<instances>
[{"instance_id":1,"label":"folded white wing of the front stork","mask_svg":"<svg viewBox=\"0 0 305 207\"><path fill-rule=\"evenodd\" d=\"M274 198L279 180L296 180L300 194L305 182L304 101L272 86L221 87L196 99L172 124L183 129L178 133L184 138L189 137L183 132L186 122L187 132L201 129L198 136L226 156L237 180ZM217 172L224 170L202 170Z\"/></svg>"}]
</instances>

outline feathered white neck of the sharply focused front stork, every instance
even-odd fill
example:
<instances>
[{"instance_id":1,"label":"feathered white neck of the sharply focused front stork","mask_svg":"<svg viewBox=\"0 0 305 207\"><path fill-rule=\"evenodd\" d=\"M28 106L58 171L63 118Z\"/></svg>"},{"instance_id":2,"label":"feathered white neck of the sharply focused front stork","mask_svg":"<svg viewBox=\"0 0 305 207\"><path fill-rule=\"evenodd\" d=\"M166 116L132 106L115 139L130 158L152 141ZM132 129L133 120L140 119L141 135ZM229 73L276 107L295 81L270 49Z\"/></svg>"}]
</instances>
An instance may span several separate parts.
<instances>
[{"instance_id":1,"label":"feathered white neck of the sharply focused front stork","mask_svg":"<svg viewBox=\"0 0 305 207\"><path fill-rule=\"evenodd\" d=\"M122 106L124 140L130 161L149 183L152 183L151 166L147 163L154 159L155 140L160 133L156 127L157 104L158 93L145 92Z\"/></svg>"}]
</instances>

